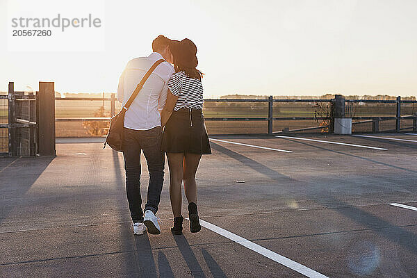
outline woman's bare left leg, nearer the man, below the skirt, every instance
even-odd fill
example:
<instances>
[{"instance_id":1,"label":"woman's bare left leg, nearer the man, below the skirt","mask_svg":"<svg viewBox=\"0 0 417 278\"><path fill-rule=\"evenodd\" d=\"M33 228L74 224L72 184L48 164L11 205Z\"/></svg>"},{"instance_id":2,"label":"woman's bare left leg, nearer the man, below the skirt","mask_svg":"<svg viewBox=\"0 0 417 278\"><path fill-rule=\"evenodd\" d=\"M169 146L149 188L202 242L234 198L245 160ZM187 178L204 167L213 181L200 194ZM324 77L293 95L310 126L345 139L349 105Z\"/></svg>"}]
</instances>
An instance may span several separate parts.
<instances>
[{"instance_id":1,"label":"woman's bare left leg, nearer the man, below the skirt","mask_svg":"<svg viewBox=\"0 0 417 278\"><path fill-rule=\"evenodd\" d=\"M183 180L184 154L167 153L170 166L170 199L174 217L181 216L181 183Z\"/></svg>"}]
</instances>

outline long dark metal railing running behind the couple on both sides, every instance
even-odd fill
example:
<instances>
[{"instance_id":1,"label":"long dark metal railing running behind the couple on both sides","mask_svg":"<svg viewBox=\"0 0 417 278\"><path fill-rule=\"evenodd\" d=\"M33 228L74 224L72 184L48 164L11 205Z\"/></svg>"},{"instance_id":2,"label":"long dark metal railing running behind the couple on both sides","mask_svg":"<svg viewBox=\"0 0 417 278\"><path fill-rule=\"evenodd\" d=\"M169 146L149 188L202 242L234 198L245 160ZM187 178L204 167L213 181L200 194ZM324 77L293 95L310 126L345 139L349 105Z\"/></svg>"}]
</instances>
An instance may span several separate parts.
<instances>
[{"instance_id":1,"label":"long dark metal railing running behind the couple on both sides","mask_svg":"<svg viewBox=\"0 0 417 278\"><path fill-rule=\"evenodd\" d=\"M337 97L337 96L336 96ZM341 96L340 96L341 97ZM371 99L344 99L341 97L341 101L343 106L338 107L340 105L336 104L335 99L273 99L272 96L268 97L268 99L204 99L205 104L211 102L227 102L227 103L265 103L268 104L268 114L266 117L256 116L256 117L211 117L208 113L204 118L206 121L267 121L268 122L268 134L272 135L273 133L288 133L288 132L295 132L295 131L313 131L316 129L327 129L328 132L332 132L332 121L336 115L338 117L351 117L352 120L356 120L357 122L352 122L352 125L363 124L367 122L373 123L373 132L379 131L379 122L387 121L387 120L395 120L395 132L400 132L402 130L412 129L413 131L417 131L417 114L412 115L401 115L401 104L417 104L416 100L402 100L401 97L398 97L396 100L371 100ZM110 115L115 115L115 103L117 99L115 98L115 94L112 94L110 98L96 98L96 97L56 97L56 100L59 101L71 101L71 100L81 100L81 101L111 101L111 113ZM274 104L278 103L309 103L309 104L329 104L329 115L320 116L320 115L313 115L311 117L300 117L300 116L293 116L293 117L277 117L274 115ZM395 115L393 116L357 116L355 115L354 111L354 104L396 104L395 108ZM341 116L340 116L341 115ZM56 117L56 122L79 122L79 121L108 121L111 117ZM310 121L327 121L329 124L327 126L309 126L302 129L288 129L285 128L282 131L273 131L273 122L274 121L300 121L300 120L310 120ZM358 121L362 120L362 121ZM401 120L413 120L413 126L401 127Z\"/></svg>"}]
</instances>

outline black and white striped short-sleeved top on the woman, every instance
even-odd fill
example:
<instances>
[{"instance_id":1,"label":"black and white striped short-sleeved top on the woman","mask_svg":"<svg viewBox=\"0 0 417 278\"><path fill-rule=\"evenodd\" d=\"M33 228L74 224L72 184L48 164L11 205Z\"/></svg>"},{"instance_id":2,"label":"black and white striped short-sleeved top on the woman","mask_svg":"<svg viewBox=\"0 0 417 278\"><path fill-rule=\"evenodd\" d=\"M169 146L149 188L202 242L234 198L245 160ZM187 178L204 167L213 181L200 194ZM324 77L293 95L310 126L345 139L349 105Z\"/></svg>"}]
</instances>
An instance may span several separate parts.
<instances>
[{"instance_id":1,"label":"black and white striped short-sleeved top on the woman","mask_svg":"<svg viewBox=\"0 0 417 278\"><path fill-rule=\"evenodd\" d=\"M188 77L186 72L175 72L167 85L172 95L178 97L174 111L181 108L203 108L203 85L201 80Z\"/></svg>"}]
</instances>

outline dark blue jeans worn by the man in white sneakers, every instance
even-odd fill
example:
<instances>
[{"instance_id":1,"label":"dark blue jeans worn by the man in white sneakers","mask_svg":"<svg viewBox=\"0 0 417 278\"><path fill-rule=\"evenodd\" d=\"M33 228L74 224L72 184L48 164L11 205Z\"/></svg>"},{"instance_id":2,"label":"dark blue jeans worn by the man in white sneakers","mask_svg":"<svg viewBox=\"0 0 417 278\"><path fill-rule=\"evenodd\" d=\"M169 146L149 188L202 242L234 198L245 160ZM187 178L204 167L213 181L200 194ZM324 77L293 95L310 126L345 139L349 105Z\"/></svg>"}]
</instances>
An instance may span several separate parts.
<instances>
[{"instance_id":1,"label":"dark blue jeans worn by the man in white sneakers","mask_svg":"<svg viewBox=\"0 0 417 278\"><path fill-rule=\"evenodd\" d=\"M140 196L140 152L143 150L149 170L147 209L156 213L161 199L165 155L161 152L162 129L156 126L147 131L124 128L123 157L126 170L126 193L133 222L143 222Z\"/></svg>"}]
</instances>

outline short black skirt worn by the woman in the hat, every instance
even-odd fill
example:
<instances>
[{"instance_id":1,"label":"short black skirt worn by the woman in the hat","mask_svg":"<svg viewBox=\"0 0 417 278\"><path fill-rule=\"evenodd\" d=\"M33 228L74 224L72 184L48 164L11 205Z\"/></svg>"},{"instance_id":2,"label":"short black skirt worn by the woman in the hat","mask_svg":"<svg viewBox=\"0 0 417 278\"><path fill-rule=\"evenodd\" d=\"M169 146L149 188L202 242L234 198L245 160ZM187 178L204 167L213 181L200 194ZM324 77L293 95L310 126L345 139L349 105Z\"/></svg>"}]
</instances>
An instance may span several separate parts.
<instances>
[{"instance_id":1,"label":"short black skirt worn by the woman in the hat","mask_svg":"<svg viewBox=\"0 0 417 278\"><path fill-rule=\"evenodd\" d=\"M171 153L211 154L201 109L172 112L163 131L161 149Z\"/></svg>"}]
</instances>

